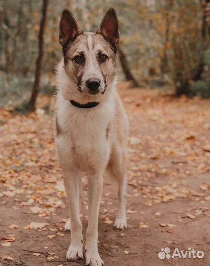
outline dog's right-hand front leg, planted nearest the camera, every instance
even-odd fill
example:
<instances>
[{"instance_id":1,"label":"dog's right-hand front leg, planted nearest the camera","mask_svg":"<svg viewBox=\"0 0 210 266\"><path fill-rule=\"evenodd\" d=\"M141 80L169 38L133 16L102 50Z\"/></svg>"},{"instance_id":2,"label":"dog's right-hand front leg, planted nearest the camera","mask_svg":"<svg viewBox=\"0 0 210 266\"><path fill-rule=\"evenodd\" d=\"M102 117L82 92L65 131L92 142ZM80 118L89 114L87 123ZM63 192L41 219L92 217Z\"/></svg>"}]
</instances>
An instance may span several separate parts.
<instances>
[{"instance_id":1,"label":"dog's right-hand front leg, planted nearest the camera","mask_svg":"<svg viewBox=\"0 0 210 266\"><path fill-rule=\"evenodd\" d=\"M89 221L86 232L86 265L104 265L98 253L98 214L103 189L102 175L92 175L89 177L88 203Z\"/></svg>"}]
</instances>

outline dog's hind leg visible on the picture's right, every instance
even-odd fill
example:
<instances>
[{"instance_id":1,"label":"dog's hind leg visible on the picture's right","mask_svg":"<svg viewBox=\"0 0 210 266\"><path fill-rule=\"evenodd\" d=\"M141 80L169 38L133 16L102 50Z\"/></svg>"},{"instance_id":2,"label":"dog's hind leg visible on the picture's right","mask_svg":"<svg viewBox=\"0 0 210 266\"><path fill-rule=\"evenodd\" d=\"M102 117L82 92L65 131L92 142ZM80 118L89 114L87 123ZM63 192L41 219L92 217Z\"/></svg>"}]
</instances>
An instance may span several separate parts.
<instances>
[{"instance_id":1,"label":"dog's hind leg visible on the picture's right","mask_svg":"<svg viewBox=\"0 0 210 266\"><path fill-rule=\"evenodd\" d=\"M118 181L118 213L115 220L114 228L126 229L126 186L127 186L127 173L126 173L126 154L123 150L113 147L110 166L112 173Z\"/></svg>"}]
</instances>

